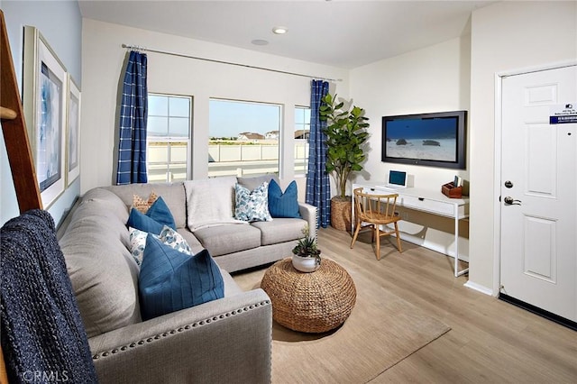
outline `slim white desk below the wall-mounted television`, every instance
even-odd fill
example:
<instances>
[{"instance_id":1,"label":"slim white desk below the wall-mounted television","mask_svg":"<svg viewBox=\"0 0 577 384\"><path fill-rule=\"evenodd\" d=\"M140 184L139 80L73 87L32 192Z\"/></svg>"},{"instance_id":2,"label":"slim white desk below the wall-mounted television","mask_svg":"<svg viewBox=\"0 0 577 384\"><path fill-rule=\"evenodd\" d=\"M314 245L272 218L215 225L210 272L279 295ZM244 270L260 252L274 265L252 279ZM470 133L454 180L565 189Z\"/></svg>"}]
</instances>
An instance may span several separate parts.
<instances>
[{"instance_id":1,"label":"slim white desk below the wall-mounted television","mask_svg":"<svg viewBox=\"0 0 577 384\"><path fill-rule=\"evenodd\" d=\"M459 277L469 271L469 268L459 270L459 220L469 217L468 198L449 198L439 190L407 187L402 189L390 189L385 187L385 182L362 182L354 183L353 190L363 187L367 192L386 195L398 194L397 205L417 211L427 212L433 215L451 217L454 219L454 277ZM354 197L353 197L354 198ZM353 216L354 217L354 201ZM353 220L354 226L354 220Z\"/></svg>"}]
</instances>

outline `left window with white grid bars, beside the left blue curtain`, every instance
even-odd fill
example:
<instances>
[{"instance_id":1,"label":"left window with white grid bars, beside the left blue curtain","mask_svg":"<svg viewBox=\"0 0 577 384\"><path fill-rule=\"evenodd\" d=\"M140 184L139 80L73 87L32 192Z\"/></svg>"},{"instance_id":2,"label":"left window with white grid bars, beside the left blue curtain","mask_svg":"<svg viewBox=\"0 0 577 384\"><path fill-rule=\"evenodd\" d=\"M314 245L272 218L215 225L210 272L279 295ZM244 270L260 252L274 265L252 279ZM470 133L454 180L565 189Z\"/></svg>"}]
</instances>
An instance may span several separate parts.
<instances>
[{"instance_id":1,"label":"left window with white grid bars, beside the left blue curtain","mask_svg":"<svg viewBox=\"0 0 577 384\"><path fill-rule=\"evenodd\" d=\"M192 97L149 94L146 160L148 180L188 179Z\"/></svg>"}]
</instances>

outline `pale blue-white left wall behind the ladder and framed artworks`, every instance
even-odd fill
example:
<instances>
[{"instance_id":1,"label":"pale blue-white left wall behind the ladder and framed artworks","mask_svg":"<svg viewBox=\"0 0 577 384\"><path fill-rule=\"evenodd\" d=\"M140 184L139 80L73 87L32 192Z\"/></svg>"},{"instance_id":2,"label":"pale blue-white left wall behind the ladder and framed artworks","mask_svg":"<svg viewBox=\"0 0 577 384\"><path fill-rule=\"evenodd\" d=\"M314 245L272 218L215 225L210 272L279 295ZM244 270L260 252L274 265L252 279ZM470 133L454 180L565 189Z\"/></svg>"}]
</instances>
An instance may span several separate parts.
<instances>
[{"instance_id":1,"label":"pale blue-white left wall behind the ladder and framed artworks","mask_svg":"<svg viewBox=\"0 0 577 384\"><path fill-rule=\"evenodd\" d=\"M66 69L81 86L82 18L76 1L6 1L2 2L6 30L14 60L16 80L22 96L23 27L39 29ZM19 215L14 182L8 164L4 136L0 135L0 224ZM56 224L66 215L80 190L79 178L48 208Z\"/></svg>"}]
</instances>

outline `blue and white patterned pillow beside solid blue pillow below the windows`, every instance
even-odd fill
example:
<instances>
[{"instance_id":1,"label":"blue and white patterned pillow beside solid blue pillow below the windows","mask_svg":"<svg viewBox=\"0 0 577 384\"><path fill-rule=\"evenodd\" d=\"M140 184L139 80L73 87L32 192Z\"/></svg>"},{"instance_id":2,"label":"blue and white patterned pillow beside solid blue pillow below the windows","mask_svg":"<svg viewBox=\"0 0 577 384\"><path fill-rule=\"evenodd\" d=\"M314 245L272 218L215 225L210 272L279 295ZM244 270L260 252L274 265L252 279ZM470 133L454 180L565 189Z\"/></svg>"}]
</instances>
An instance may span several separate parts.
<instances>
[{"instance_id":1,"label":"blue and white patterned pillow beside solid blue pillow below the windows","mask_svg":"<svg viewBox=\"0 0 577 384\"><path fill-rule=\"evenodd\" d=\"M270 222L269 183L263 182L254 190L236 184L234 187L234 217L245 222Z\"/></svg>"}]
</instances>

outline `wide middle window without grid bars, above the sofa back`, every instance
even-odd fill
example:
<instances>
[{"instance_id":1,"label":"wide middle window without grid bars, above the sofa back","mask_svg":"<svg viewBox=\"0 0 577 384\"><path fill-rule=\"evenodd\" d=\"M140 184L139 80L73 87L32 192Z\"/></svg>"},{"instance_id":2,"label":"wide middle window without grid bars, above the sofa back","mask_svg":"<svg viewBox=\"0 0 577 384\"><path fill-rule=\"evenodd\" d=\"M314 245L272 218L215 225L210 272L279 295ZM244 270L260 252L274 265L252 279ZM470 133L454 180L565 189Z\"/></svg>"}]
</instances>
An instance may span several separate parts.
<instances>
[{"instance_id":1,"label":"wide middle window without grid bars, above the sofa back","mask_svg":"<svg viewBox=\"0 0 577 384\"><path fill-rule=\"evenodd\" d=\"M281 105L210 99L208 176L279 173Z\"/></svg>"}]
</instances>

